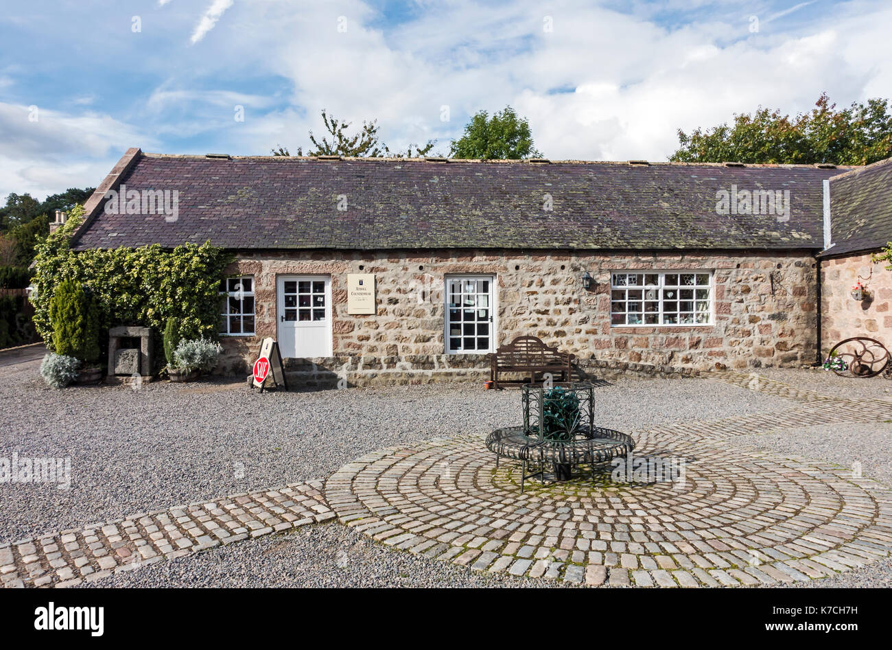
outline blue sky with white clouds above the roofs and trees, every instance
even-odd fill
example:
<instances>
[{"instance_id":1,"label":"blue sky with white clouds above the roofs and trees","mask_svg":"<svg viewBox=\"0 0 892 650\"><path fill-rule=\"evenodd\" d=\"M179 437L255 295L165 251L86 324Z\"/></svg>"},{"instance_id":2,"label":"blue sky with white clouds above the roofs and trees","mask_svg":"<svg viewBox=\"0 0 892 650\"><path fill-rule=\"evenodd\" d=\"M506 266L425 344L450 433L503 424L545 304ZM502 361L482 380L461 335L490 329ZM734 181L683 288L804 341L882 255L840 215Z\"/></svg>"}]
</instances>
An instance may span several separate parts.
<instances>
[{"instance_id":1,"label":"blue sky with white clouds above the roofs and trees","mask_svg":"<svg viewBox=\"0 0 892 650\"><path fill-rule=\"evenodd\" d=\"M892 96L890 28L888 0L16 3L0 196L95 186L129 146L294 150L321 108L445 153L469 115L511 104L549 158L665 160L677 129L760 104Z\"/></svg>"}]
</instances>

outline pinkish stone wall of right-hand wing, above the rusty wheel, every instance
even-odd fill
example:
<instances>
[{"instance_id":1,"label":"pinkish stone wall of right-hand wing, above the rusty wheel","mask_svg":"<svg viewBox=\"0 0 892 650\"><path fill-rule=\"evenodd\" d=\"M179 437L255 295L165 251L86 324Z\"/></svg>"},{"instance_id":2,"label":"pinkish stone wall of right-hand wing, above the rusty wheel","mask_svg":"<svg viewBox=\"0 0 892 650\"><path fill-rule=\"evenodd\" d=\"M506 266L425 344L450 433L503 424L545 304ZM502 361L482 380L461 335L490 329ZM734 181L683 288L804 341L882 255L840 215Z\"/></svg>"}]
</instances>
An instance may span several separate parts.
<instances>
[{"instance_id":1,"label":"pinkish stone wall of right-hand wing, above the rusty wheel","mask_svg":"<svg viewBox=\"0 0 892 650\"><path fill-rule=\"evenodd\" d=\"M857 301L852 287L858 280L868 297ZM821 262L822 352L844 338L871 337L892 346L892 271L870 254L851 255Z\"/></svg>"}]
</instances>

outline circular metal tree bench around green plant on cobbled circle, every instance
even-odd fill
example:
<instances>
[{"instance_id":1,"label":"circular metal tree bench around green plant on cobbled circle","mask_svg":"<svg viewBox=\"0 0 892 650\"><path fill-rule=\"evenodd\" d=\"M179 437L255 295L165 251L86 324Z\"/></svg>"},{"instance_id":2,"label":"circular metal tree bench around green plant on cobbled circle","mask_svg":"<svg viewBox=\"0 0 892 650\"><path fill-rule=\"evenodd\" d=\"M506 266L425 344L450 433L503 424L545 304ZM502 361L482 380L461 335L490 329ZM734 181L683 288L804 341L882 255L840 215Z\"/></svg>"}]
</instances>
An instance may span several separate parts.
<instances>
[{"instance_id":1,"label":"circular metal tree bench around green plant on cobbled circle","mask_svg":"<svg viewBox=\"0 0 892 650\"><path fill-rule=\"evenodd\" d=\"M629 454L632 437L592 424L594 387L587 383L523 387L524 425L496 429L486 437L486 448L500 458L522 463L520 491L526 479L545 482L549 467L556 480L569 480L575 467L596 466L615 456Z\"/></svg>"}]
</instances>

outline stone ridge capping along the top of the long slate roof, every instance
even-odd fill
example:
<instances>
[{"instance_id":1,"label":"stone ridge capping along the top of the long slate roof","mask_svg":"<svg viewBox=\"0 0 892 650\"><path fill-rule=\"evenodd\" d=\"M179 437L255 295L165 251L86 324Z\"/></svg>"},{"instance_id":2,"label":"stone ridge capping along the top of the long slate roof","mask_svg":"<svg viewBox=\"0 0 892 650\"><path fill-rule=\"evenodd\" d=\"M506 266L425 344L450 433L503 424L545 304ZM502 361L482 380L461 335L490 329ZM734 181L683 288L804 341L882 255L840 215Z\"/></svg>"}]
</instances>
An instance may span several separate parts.
<instances>
[{"instance_id":1,"label":"stone ridge capping along the top of the long slate roof","mask_svg":"<svg viewBox=\"0 0 892 650\"><path fill-rule=\"evenodd\" d=\"M143 155L147 158L191 158L191 159L200 159L200 160L220 160L221 158L209 158L207 154L160 154L160 153L151 153L144 152ZM428 164L442 164L442 162L431 162L430 160L426 160L424 157L420 158L397 158L394 156L352 156L352 157L343 157L340 161L330 161L323 160L319 161L317 156L314 155L230 155L229 160L280 160L280 161L313 161L313 162L427 162ZM491 159L491 160L482 160L479 158L447 158L448 162L471 162L471 163L493 163L493 164L506 164L506 163L515 163L515 164L535 164L531 163L530 159L521 159L521 160L507 160L507 159ZM892 160L892 159L890 159ZM549 159L551 164L591 164L591 165L622 165L624 167L629 167L629 161L600 161L600 160L574 160L574 159L566 159L566 160L555 160L553 158ZM878 164L878 163L873 163ZM727 168L725 162L680 162L680 161L648 161L648 166L653 167L655 165L665 165L669 167L721 167ZM641 167L645 167L645 165L640 165ZM744 163L744 167L752 167L756 169L821 169L815 167L814 164L799 164L792 162L746 162ZM837 165L837 169L847 170L844 173L849 173L850 171L861 171L862 169L866 169L861 165ZM838 176L842 176L843 174L838 174ZM834 176L832 178L837 178Z\"/></svg>"}]
</instances>

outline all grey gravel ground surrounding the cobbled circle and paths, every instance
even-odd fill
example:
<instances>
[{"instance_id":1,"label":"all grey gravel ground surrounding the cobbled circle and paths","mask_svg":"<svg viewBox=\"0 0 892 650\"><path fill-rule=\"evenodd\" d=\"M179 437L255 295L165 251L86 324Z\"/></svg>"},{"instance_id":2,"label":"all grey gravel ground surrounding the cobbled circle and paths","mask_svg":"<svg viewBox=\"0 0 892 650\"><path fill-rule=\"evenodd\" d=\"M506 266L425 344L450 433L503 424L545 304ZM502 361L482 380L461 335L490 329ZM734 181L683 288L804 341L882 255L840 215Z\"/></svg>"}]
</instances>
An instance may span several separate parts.
<instances>
[{"instance_id":1,"label":"all grey gravel ground surrounding the cobbled circle and paths","mask_svg":"<svg viewBox=\"0 0 892 650\"><path fill-rule=\"evenodd\" d=\"M259 395L244 383L167 382L130 387L46 388L38 362L0 378L6 426L0 457L71 459L71 487L0 486L0 544L177 504L324 479L385 446L483 436L520 419L516 390L476 386L388 387ZM888 399L882 379L814 371L760 371L824 394ZM880 383L881 382L881 383ZM862 387L859 388L858 385ZM854 392L853 392L854 391ZM778 413L779 396L715 379L621 379L598 388L603 425L634 433L662 424ZM852 423L740 436L729 446L847 464L892 480L892 425ZM812 586L889 584L889 562ZM328 521L116 574L96 586L524 586L533 579L469 571L395 551Z\"/></svg>"}]
</instances>

